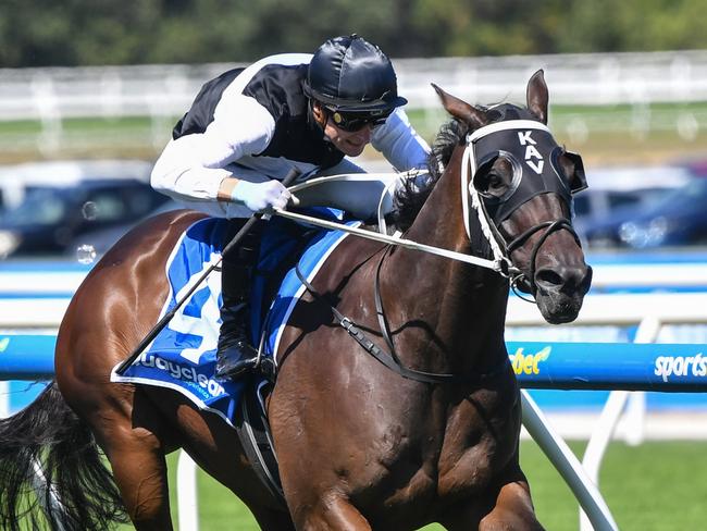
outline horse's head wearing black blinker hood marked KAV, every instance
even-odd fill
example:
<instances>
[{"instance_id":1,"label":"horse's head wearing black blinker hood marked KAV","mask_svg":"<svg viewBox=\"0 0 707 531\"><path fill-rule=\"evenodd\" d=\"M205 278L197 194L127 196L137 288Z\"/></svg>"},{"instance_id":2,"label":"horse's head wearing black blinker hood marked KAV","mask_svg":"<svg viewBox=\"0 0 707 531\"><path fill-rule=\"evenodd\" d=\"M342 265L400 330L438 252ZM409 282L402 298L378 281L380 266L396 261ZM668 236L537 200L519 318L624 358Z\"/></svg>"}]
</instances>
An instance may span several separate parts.
<instances>
[{"instance_id":1,"label":"horse's head wearing black blinker hood marked KAV","mask_svg":"<svg viewBox=\"0 0 707 531\"><path fill-rule=\"evenodd\" d=\"M469 127L461 174L464 222L479 219L511 282L531 293L549 323L573 321L592 282L571 224L572 194L586 187L582 159L546 126L543 71L528 83L528 107L473 107L434 87Z\"/></svg>"}]
</instances>

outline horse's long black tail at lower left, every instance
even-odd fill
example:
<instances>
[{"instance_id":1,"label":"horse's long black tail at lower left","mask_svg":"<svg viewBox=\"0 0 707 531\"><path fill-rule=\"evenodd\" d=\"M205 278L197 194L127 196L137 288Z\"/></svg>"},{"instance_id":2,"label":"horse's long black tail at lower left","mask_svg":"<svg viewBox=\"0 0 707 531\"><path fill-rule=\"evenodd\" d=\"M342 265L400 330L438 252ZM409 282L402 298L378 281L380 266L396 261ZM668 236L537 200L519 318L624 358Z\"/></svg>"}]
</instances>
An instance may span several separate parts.
<instances>
[{"instance_id":1,"label":"horse's long black tail at lower left","mask_svg":"<svg viewBox=\"0 0 707 531\"><path fill-rule=\"evenodd\" d=\"M0 529L44 529L46 520L52 530L92 531L127 521L101 456L88 424L52 382L0 420Z\"/></svg>"}]
</instances>

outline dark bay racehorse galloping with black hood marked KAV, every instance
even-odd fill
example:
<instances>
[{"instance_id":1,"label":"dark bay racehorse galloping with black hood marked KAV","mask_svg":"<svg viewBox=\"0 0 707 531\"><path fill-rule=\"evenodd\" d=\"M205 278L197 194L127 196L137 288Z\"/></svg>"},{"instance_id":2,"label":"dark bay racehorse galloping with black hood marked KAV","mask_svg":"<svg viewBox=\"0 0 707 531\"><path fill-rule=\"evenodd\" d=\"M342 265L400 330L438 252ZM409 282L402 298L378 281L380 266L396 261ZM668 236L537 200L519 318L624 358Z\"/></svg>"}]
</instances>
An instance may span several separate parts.
<instances>
[{"instance_id":1,"label":"dark bay racehorse galloping with black hood marked KAV","mask_svg":"<svg viewBox=\"0 0 707 531\"><path fill-rule=\"evenodd\" d=\"M408 239L492 258L499 271L348 237L313 284L386 345L377 276L399 363L454 378L402 378L354 342L323 297L307 295L281 341L269 399L282 509L219 417L170 390L109 381L157 321L165 260L201 215L162 214L96 264L61 324L55 383L1 421L3 529L18 528L23 484L38 459L64 506L51 517L63 529L103 529L122 510L138 530L172 529L164 456L179 447L264 530L433 521L450 530L542 529L519 466L519 390L504 341L509 276L548 322L576 318L591 283L570 222L582 169L544 125L542 71L528 84L526 108L476 108L436 89L454 120L437 141L430 186L399 195L398 223Z\"/></svg>"}]
</instances>

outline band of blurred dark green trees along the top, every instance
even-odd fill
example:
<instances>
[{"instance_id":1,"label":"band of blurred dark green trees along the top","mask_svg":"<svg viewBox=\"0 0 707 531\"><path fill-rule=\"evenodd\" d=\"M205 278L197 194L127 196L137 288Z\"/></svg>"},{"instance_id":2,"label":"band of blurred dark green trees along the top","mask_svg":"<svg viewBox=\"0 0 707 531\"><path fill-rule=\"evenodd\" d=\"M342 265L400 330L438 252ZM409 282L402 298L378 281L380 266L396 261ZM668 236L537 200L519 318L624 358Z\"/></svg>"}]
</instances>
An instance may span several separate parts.
<instances>
[{"instance_id":1,"label":"band of blurred dark green trees along the top","mask_svg":"<svg viewBox=\"0 0 707 531\"><path fill-rule=\"evenodd\" d=\"M704 0L1 0L0 66L248 62L358 33L392 57L707 48Z\"/></svg>"}]
</instances>

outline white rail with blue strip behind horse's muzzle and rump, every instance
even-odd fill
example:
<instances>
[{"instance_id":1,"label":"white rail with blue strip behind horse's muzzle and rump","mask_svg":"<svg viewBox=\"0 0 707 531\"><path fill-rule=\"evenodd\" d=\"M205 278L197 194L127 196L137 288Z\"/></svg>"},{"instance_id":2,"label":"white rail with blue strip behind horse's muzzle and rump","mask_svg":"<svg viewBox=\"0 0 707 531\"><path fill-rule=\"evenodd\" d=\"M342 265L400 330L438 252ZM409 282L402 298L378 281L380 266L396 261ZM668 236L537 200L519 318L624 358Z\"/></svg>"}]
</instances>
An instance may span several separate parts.
<instances>
[{"instance_id":1,"label":"white rail with blue strip behind horse's muzzle and rump","mask_svg":"<svg viewBox=\"0 0 707 531\"><path fill-rule=\"evenodd\" d=\"M11 297L0 297L0 330L55 331L72 294L86 274L86 271L80 270L1 271L0 294ZM612 286L621 286L627 291L660 286L666 291L680 288L681 292L608 293ZM638 324L644 317L655 314L660 314L665 324L703 323L707 320L705 286L707 267L702 262L596 264L592 292L585 298L573 325ZM507 318L509 326L544 323L535 305L517 297L510 298ZM548 330L567 330L571 326Z\"/></svg>"}]
</instances>

